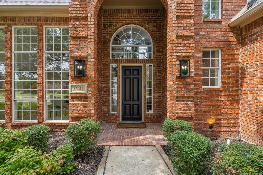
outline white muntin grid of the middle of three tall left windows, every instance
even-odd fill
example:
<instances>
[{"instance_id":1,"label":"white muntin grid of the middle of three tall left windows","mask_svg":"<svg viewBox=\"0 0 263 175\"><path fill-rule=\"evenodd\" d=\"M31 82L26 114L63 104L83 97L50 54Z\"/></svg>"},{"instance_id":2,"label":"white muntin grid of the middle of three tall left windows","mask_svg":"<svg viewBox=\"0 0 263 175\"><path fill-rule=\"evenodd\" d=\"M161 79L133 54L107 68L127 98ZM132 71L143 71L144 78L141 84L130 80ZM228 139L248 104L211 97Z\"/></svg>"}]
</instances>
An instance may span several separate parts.
<instances>
[{"instance_id":1,"label":"white muntin grid of the middle of three tall left windows","mask_svg":"<svg viewBox=\"0 0 263 175\"><path fill-rule=\"evenodd\" d=\"M23 30L24 29L28 29L28 28L29 28L29 35L23 35ZM17 29L21 29L21 35L17 35L17 34L15 35L15 31L17 31ZM35 35L33 35L34 31L32 31L32 30L35 30ZM17 43L17 39L15 38L15 37L18 37L18 36L21 36L21 42L19 42L19 43ZM34 98L31 98L31 91L37 90L37 89L31 89L31 82L35 81L35 80L31 80L31 72L37 72L37 70L36 71L31 71L31 63L37 63L36 61L31 61L32 60L32 57L31 57L32 55L31 54L33 54L33 55L34 55L34 53L37 54L37 27L31 27L31 26L13 27L12 37L13 37L13 49L12 49L13 50L13 58L15 58L14 55L21 53L21 61L15 61L13 59L13 67L14 67L15 63L21 63L21 71L14 71L15 67L13 69L13 77L14 77L13 78L13 85L15 84L15 81L17 81L17 82L21 81L21 89L15 89L15 86L13 87L13 89L14 89L13 90L13 94L14 94L13 95L13 100L14 100L14 110L13 110L13 112L14 112L14 121L37 121L37 119L32 119L32 112L35 112L35 116L37 117L37 110L36 109L32 110L32 102L37 104L37 96L34 97ZM24 43L23 42L23 40L24 40L23 38L24 37L29 37L29 43ZM35 40L36 40L35 43L34 42L32 43L31 37L35 37ZM18 44L21 44L21 50L17 50L17 47L15 47ZM29 51L24 51L23 45L29 45ZM29 53L29 61L23 62L23 60L22 60L23 59L22 58L23 53L24 54ZM29 71L23 71L23 63L29 63ZM18 72L21 73L21 76L22 76L21 80L15 80L15 73L18 73ZM23 80L23 72L29 72L29 80ZM37 80L37 77L36 77L36 80ZM24 89L24 90L29 90L29 98L23 98L23 94L24 94L23 93L23 81L29 81L29 89ZM37 83L37 81L36 81L36 83ZM15 92L17 90L21 90L21 98L16 98ZM22 102L22 104L23 104L22 105L22 110L17 110L18 102ZM24 110L24 107L26 107L26 106L24 106L24 103L26 103L26 102L30 103L30 106L28 106L29 109ZM17 112L18 111L22 111L22 120L18 120L18 116L17 116L17 114L18 114ZM24 120L24 111L29 111L30 112L30 120Z\"/></svg>"}]
</instances>

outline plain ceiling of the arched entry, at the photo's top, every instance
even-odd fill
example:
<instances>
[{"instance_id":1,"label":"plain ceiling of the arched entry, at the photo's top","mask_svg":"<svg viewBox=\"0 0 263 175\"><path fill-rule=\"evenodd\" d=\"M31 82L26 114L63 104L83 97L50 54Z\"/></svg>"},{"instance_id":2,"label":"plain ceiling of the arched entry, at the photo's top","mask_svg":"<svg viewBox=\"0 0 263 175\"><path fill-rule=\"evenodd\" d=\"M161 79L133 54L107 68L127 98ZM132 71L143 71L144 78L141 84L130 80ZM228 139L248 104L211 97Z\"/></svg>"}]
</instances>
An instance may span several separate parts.
<instances>
[{"instance_id":1,"label":"plain ceiling of the arched entry, at the photo's top","mask_svg":"<svg viewBox=\"0 0 263 175\"><path fill-rule=\"evenodd\" d=\"M162 8L160 0L104 0L102 8Z\"/></svg>"}]
</instances>

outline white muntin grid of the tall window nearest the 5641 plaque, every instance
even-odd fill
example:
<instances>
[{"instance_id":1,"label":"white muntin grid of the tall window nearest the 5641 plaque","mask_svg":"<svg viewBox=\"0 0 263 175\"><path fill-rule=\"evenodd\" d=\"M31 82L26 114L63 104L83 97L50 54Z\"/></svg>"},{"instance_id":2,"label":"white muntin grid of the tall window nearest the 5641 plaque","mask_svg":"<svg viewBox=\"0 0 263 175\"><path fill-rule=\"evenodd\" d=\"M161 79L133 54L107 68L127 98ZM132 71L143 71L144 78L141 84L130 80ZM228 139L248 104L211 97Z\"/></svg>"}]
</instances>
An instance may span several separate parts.
<instances>
[{"instance_id":1,"label":"white muntin grid of the tall window nearest the 5641 plaque","mask_svg":"<svg viewBox=\"0 0 263 175\"><path fill-rule=\"evenodd\" d=\"M61 35L46 35L47 34L47 29L51 29L53 28L53 32L55 29L60 29L61 30ZM67 28L67 35L63 35L62 33L62 30L64 30L65 28ZM51 43L50 45L53 45L53 51L47 51L47 45L49 45L47 43L47 37L53 37L53 43ZM60 43L54 43L54 37L60 37ZM62 43L62 37L68 37L68 42L67 43ZM69 119L63 119L63 114L66 113L67 117L69 118L69 47L67 51L62 51L62 47L63 45L69 45L69 27L66 27L66 26L63 26L63 27L45 27L45 48L44 48L44 64L45 64L45 74L44 74L44 77L45 77L45 86L44 86L44 89L45 89L45 121L68 121ZM54 44L56 45L59 45L60 44L60 51L54 51ZM47 55L51 55L52 54L52 61L48 61L48 58L47 58ZM60 55L60 61L55 61L55 54L57 55ZM63 58L66 58L67 61L65 61L65 59ZM46 70L47 69L47 65L48 64L51 65L52 64L52 70ZM60 63L61 65L63 63L66 63L68 64L68 66L65 66L64 67L60 67L60 70L54 70L54 67L55 67L55 64L54 63ZM59 65L59 64L57 64ZM62 68L66 68L67 70L62 70ZM52 73L52 80L48 80L48 76L47 76L47 73ZM54 80L54 73L58 73L60 72L60 80ZM62 79L62 76L63 76L63 73L68 73L68 79ZM60 89L58 88L54 88L56 87L54 85L54 81L59 81L60 82ZM50 88L50 87L47 87L47 83L48 82L52 82L52 87L53 88ZM63 85L63 83L65 83L65 85ZM58 85L57 85L58 86ZM62 88L64 86L64 88ZM65 88L67 87L67 88ZM53 98L47 98L47 95L49 92L48 91L52 91L52 95L53 95ZM60 98L54 98L55 97L55 91L60 91ZM64 97L67 97L67 98L63 98L62 96L62 91L68 91ZM52 102L53 101L53 104ZM56 103L60 105L61 109L56 109L56 106L58 105L55 105L55 101ZM59 102L58 102L59 101ZM49 105L48 103L51 103L51 105L53 105L53 109L49 109ZM64 106L64 109L63 109L63 103L65 103L65 106ZM53 119L48 119L48 113L50 112L50 114L53 112ZM55 113L57 115L57 113L60 112L60 119L55 119ZM64 117L66 116L64 115ZM51 115L52 116L52 115Z\"/></svg>"}]
</instances>

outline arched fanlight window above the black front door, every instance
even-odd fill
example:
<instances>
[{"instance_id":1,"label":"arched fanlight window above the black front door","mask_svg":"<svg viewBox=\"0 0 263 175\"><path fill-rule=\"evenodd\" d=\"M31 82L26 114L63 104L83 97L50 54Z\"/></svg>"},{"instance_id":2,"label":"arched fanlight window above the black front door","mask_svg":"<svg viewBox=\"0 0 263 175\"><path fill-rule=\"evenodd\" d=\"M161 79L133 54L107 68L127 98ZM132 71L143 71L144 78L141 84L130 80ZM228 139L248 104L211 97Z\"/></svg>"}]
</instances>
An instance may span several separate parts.
<instances>
[{"instance_id":1,"label":"arched fanlight window above the black front door","mask_svg":"<svg viewBox=\"0 0 263 175\"><path fill-rule=\"evenodd\" d=\"M137 25L126 25L112 37L111 59L151 59L152 40L149 33Z\"/></svg>"}]
</instances>

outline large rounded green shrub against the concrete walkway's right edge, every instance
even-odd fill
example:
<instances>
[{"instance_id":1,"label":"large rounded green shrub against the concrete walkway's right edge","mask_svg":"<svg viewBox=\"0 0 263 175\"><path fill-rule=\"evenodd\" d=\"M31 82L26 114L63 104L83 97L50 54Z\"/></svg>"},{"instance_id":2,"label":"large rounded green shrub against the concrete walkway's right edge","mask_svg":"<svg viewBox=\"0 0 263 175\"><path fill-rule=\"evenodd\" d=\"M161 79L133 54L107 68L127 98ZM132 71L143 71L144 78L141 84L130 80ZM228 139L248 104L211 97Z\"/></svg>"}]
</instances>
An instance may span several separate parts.
<instances>
[{"instance_id":1,"label":"large rounded green shrub against the concrete walkway's right edge","mask_svg":"<svg viewBox=\"0 0 263 175\"><path fill-rule=\"evenodd\" d=\"M168 137L171 160L178 174L205 174L212 144L209 138L191 131L174 131Z\"/></svg>"}]
</instances>

